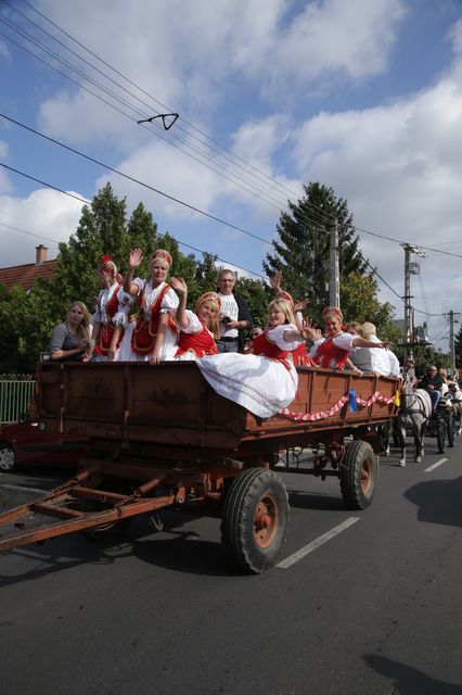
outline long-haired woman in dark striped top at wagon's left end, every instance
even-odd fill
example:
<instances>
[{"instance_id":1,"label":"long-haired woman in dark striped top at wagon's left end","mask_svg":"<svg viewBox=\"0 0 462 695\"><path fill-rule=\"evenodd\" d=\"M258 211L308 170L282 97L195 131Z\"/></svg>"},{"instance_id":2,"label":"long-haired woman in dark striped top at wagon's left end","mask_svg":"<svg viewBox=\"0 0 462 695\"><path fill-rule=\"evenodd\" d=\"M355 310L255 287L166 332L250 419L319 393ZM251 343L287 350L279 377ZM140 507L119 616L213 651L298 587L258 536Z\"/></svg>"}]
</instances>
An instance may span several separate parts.
<instances>
[{"instance_id":1,"label":"long-haired woman in dark striped top at wagon's left end","mask_svg":"<svg viewBox=\"0 0 462 695\"><path fill-rule=\"evenodd\" d=\"M50 338L51 359L75 359L87 362L91 342L91 316L84 302L74 302L67 309L63 324L53 328Z\"/></svg>"}]
</instances>

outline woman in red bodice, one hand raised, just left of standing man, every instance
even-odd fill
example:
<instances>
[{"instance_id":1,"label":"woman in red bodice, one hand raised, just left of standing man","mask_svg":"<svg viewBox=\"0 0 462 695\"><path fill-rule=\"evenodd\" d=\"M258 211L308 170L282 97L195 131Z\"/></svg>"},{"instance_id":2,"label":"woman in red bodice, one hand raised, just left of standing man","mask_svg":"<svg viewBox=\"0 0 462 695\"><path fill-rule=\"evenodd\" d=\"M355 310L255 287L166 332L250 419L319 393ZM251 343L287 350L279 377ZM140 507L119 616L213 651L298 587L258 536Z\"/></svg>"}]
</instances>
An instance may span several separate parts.
<instances>
[{"instance_id":1,"label":"woman in red bodice, one hand raised, just left of standing man","mask_svg":"<svg viewBox=\"0 0 462 695\"><path fill-rule=\"evenodd\" d=\"M220 298L216 292L206 292L197 300L194 314L187 309L188 285L184 280L171 278L170 283L180 295L175 316L179 330L175 359L197 359L205 355L217 355L215 339L220 334Z\"/></svg>"}]
</instances>

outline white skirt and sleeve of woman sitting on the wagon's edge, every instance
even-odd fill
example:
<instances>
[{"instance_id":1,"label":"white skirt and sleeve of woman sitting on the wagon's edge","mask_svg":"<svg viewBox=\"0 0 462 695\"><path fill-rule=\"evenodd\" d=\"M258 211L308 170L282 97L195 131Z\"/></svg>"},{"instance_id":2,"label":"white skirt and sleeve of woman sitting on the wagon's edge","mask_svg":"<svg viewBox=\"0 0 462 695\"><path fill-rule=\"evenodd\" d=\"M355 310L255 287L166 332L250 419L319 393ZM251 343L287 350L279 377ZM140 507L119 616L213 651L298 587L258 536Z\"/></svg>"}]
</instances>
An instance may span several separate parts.
<instances>
[{"instance_id":1,"label":"white skirt and sleeve of woman sitting on the wagon's edge","mask_svg":"<svg viewBox=\"0 0 462 695\"><path fill-rule=\"evenodd\" d=\"M287 342L284 331L296 326L284 324L268 330L268 340L282 352L295 350L298 342ZM298 375L292 361L281 362L264 355L221 353L197 359L203 376L211 388L239 403L258 417L271 417L295 399Z\"/></svg>"}]
</instances>

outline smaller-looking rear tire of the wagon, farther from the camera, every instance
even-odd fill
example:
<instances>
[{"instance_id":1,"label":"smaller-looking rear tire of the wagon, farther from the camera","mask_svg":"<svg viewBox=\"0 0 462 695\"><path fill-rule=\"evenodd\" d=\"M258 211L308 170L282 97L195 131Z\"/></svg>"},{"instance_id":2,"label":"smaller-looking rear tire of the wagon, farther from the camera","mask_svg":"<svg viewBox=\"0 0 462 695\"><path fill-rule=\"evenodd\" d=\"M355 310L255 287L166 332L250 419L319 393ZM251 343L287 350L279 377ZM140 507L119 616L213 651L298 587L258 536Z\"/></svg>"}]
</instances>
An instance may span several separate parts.
<instances>
[{"instance_id":1,"label":"smaller-looking rear tire of the wagon, farther from the camera","mask_svg":"<svg viewBox=\"0 0 462 695\"><path fill-rule=\"evenodd\" d=\"M364 509L371 504L378 475L377 458L368 442L355 440L346 450L341 469L341 491L348 509ZM364 473L367 480L364 480Z\"/></svg>"}]
</instances>

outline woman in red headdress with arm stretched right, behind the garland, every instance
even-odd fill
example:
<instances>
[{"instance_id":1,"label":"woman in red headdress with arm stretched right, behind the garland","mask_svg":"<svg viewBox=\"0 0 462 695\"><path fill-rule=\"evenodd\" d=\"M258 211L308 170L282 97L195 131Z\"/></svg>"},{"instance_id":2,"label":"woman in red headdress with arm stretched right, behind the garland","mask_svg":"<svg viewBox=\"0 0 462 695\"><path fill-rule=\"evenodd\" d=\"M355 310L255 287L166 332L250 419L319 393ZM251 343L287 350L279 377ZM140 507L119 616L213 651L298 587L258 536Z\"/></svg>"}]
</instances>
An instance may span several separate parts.
<instances>
[{"instance_id":1,"label":"woman in red headdress with arm stretched right, behind the garland","mask_svg":"<svg viewBox=\"0 0 462 695\"><path fill-rule=\"evenodd\" d=\"M372 342L361 336L345 333L344 317L336 306L328 306L322 313L326 338L315 340L309 356L318 367L342 369L355 348L386 348L386 342ZM315 337L315 336L313 336Z\"/></svg>"}]
</instances>

